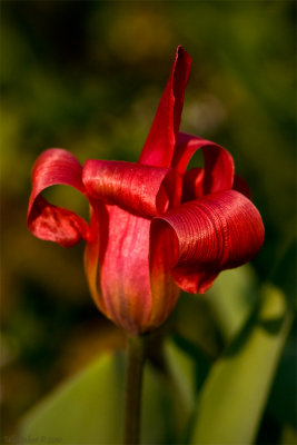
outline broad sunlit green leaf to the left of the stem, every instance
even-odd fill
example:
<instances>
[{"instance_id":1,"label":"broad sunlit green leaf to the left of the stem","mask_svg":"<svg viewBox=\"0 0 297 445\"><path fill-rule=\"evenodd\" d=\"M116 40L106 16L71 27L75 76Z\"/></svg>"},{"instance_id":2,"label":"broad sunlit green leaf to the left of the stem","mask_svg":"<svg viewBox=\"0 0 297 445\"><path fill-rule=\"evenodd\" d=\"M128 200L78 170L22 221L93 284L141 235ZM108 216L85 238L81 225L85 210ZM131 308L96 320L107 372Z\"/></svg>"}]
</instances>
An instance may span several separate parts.
<instances>
[{"instance_id":1,"label":"broad sunlit green leaf to the left of the stem","mask_svg":"<svg viewBox=\"0 0 297 445\"><path fill-rule=\"evenodd\" d=\"M119 355L100 356L30 412L20 436L33 437L37 444L49 438L66 444L120 443L123 370Z\"/></svg>"}]
</instances>

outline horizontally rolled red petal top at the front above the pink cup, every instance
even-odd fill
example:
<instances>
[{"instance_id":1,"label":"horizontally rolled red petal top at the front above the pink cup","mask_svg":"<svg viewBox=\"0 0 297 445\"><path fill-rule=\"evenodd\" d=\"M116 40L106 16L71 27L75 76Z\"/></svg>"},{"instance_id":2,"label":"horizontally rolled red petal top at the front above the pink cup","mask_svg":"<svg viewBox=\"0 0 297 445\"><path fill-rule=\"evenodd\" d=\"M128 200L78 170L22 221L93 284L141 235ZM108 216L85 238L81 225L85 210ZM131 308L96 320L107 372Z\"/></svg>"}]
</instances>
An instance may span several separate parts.
<instances>
[{"instance_id":1,"label":"horizontally rolled red petal top at the front above the pink cup","mask_svg":"<svg viewBox=\"0 0 297 445\"><path fill-rule=\"evenodd\" d=\"M177 179L174 169L108 160L88 160L82 174L91 197L142 217L164 214L179 204Z\"/></svg>"}]
</instances>

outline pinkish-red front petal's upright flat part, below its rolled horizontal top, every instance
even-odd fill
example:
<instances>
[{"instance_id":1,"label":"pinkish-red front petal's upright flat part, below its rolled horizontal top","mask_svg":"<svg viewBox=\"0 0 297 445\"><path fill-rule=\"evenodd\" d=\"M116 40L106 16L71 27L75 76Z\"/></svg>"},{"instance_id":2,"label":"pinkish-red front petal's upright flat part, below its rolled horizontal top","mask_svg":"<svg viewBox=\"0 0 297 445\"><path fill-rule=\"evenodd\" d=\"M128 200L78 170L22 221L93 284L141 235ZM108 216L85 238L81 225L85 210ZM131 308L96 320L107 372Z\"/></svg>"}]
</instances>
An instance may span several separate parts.
<instances>
[{"instance_id":1,"label":"pinkish-red front petal's upright flat part, below its rolled horizontal top","mask_svg":"<svg viewBox=\"0 0 297 445\"><path fill-rule=\"evenodd\" d=\"M106 315L131 334L147 330L151 312L149 281L150 220L107 206L108 234L100 254Z\"/></svg>"}]
</instances>

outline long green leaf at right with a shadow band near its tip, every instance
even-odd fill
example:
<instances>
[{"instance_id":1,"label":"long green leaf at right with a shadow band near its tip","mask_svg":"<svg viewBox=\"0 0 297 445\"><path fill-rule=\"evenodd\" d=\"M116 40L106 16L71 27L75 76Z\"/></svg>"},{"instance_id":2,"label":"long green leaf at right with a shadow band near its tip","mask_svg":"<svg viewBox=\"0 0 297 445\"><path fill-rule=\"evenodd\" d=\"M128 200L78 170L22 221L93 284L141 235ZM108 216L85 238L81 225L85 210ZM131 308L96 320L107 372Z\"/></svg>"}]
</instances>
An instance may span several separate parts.
<instances>
[{"instance_id":1,"label":"long green leaf at right with a shadow band near its tip","mask_svg":"<svg viewBox=\"0 0 297 445\"><path fill-rule=\"evenodd\" d=\"M265 286L258 314L206 379L191 444L253 443L291 319L284 294Z\"/></svg>"}]
</instances>

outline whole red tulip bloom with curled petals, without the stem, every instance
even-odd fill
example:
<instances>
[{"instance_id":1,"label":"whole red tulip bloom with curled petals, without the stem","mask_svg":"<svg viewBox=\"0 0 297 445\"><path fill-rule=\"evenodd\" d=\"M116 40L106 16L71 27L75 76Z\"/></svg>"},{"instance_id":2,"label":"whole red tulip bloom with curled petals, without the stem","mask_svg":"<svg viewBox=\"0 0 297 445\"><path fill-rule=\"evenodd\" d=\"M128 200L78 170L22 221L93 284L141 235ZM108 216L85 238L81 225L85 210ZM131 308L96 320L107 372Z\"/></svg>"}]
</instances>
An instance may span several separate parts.
<instances>
[{"instance_id":1,"label":"whole red tulip bloom with curled petals, without the stem","mask_svg":"<svg viewBox=\"0 0 297 445\"><path fill-rule=\"evenodd\" d=\"M137 164L44 151L32 171L28 226L65 247L86 240L85 265L99 309L131 334L159 326L180 288L205 293L217 275L249 261L264 241L261 217L222 147L179 132L191 65L178 47L168 83ZM186 171L196 150L205 168ZM49 204L49 186L75 187L90 224Z\"/></svg>"}]
</instances>

